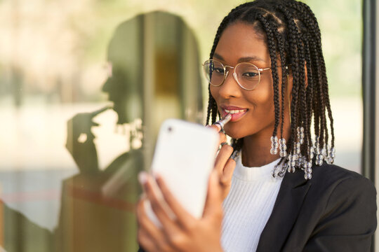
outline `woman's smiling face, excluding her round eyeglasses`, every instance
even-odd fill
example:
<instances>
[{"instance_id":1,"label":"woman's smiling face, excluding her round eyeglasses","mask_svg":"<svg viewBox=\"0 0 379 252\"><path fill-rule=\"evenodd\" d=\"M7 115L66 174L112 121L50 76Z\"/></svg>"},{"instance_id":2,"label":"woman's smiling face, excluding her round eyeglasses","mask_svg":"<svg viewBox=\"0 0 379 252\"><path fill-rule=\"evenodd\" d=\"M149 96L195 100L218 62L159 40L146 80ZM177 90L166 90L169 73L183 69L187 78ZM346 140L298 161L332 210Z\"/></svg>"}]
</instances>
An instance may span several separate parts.
<instances>
[{"instance_id":1,"label":"woman's smiling face, excluding her round eyeglasses","mask_svg":"<svg viewBox=\"0 0 379 252\"><path fill-rule=\"evenodd\" d=\"M265 41L258 37L253 25L241 22L229 25L225 29L213 59L227 66L236 66L239 62L250 62L258 68L271 66ZM280 67L278 70L281 81ZM230 69L222 85L219 87L211 85L211 94L222 117L227 114L225 109L240 111L234 113L230 123L225 125L225 132L236 139L253 134L263 134L270 139L274 130L274 90L271 69L261 72L259 85L250 91L238 85L232 71Z\"/></svg>"}]
</instances>

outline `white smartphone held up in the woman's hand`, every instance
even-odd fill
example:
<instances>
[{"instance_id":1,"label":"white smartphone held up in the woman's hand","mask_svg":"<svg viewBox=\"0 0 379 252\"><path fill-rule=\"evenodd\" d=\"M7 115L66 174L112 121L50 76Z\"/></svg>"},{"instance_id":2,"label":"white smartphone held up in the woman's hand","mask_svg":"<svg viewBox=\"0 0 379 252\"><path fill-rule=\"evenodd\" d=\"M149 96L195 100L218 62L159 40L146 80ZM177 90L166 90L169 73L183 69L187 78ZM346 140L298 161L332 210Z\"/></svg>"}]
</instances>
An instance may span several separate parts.
<instances>
[{"instance_id":1,"label":"white smartphone held up in the woman's hand","mask_svg":"<svg viewBox=\"0 0 379 252\"><path fill-rule=\"evenodd\" d=\"M152 174L159 174L164 179L175 199L195 218L201 218L204 211L218 141L215 130L184 120L168 119L159 130ZM149 202L145 210L160 227ZM167 211L175 218L169 209Z\"/></svg>"}]
</instances>

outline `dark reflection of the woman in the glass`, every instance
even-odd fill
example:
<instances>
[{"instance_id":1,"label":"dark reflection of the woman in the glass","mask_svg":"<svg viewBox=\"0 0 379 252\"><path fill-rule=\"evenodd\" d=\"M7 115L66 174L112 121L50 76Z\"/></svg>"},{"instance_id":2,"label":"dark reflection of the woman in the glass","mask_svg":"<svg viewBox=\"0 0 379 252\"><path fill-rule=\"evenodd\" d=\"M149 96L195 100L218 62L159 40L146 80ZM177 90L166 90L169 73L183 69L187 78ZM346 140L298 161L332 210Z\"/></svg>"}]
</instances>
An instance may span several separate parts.
<instances>
[{"instance_id":1,"label":"dark reflection of the woman in the glass","mask_svg":"<svg viewBox=\"0 0 379 252\"><path fill-rule=\"evenodd\" d=\"M79 172L62 181L57 227L41 228L1 204L7 251L137 251L137 175L149 168L159 126L166 118L202 119L197 41L176 15L141 14L114 31L107 62L102 92L112 104L67 120L65 147ZM99 146L93 119L110 110L129 148L100 167L98 151L112 145Z\"/></svg>"}]
</instances>

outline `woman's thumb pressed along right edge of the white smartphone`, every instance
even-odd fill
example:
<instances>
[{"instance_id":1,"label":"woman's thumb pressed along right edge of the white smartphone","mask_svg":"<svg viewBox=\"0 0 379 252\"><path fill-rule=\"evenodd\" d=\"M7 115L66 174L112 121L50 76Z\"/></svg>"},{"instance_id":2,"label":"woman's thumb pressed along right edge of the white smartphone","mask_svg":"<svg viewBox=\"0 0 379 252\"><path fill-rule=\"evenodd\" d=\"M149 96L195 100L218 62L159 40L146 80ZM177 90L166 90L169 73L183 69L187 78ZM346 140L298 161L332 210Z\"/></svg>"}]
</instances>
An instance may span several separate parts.
<instances>
[{"instance_id":1,"label":"woman's thumb pressed along right edge of the white smartphone","mask_svg":"<svg viewBox=\"0 0 379 252\"><path fill-rule=\"evenodd\" d=\"M222 216L222 190L218 179L218 172L213 169L208 181L208 194L204 207L203 217L221 214Z\"/></svg>"}]
</instances>

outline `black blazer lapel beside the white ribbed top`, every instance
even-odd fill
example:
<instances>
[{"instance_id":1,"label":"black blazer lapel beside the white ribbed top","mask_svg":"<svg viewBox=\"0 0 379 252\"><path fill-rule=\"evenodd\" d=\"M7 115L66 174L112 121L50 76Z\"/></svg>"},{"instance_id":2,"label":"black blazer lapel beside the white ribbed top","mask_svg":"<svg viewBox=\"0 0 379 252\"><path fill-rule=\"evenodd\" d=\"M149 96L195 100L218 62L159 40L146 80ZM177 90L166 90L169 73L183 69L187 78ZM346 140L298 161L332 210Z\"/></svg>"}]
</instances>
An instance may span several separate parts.
<instances>
[{"instance_id":1,"label":"black blazer lapel beside the white ribbed top","mask_svg":"<svg viewBox=\"0 0 379 252\"><path fill-rule=\"evenodd\" d=\"M280 251L311 186L301 171L286 172L272 214L260 235L257 252Z\"/></svg>"}]
</instances>

